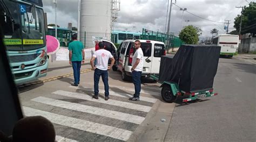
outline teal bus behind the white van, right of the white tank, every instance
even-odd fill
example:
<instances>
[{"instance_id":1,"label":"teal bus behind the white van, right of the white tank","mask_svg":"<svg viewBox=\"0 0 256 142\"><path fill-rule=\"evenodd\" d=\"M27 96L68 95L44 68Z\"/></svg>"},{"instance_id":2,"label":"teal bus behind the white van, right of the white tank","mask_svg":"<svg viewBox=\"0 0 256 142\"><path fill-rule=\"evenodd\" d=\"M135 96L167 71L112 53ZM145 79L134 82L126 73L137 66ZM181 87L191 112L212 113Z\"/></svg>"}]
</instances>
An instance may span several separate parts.
<instances>
[{"instance_id":1,"label":"teal bus behind the white van, right of the white tank","mask_svg":"<svg viewBox=\"0 0 256 142\"><path fill-rule=\"evenodd\" d=\"M111 40L114 44L120 44L126 39L140 39L141 32L112 31Z\"/></svg>"}]
</instances>

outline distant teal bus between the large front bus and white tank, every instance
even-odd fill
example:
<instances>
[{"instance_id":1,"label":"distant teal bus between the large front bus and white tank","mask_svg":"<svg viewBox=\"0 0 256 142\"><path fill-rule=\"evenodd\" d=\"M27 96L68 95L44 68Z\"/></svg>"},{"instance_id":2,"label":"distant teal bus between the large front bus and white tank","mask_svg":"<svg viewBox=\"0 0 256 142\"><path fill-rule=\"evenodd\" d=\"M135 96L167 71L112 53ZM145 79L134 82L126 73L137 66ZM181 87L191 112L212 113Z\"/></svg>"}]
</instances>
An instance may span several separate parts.
<instances>
[{"instance_id":1,"label":"distant teal bus between the large front bus and white tank","mask_svg":"<svg viewBox=\"0 0 256 142\"><path fill-rule=\"evenodd\" d=\"M48 26L47 35L55 37L55 27ZM69 29L57 27L57 39L62 47L68 47L71 42L72 31Z\"/></svg>"}]
</instances>

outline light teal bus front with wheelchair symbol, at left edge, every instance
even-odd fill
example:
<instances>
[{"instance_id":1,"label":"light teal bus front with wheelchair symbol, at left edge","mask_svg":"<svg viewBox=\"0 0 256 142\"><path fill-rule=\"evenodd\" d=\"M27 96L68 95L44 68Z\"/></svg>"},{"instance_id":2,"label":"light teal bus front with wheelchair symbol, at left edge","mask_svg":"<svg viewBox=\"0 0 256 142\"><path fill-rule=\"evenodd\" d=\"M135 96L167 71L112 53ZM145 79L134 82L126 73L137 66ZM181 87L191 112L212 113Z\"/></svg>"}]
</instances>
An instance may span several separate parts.
<instances>
[{"instance_id":1,"label":"light teal bus front with wheelchair symbol, at left edge","mask_svg":"<svg viewBox=\"0 0 256 142\"><path fill-rule=\"evenodd\" d=\"M0 22L16 84L46 76L48 58L42 0L1 0Z\"/></svg>"}]
</instances>

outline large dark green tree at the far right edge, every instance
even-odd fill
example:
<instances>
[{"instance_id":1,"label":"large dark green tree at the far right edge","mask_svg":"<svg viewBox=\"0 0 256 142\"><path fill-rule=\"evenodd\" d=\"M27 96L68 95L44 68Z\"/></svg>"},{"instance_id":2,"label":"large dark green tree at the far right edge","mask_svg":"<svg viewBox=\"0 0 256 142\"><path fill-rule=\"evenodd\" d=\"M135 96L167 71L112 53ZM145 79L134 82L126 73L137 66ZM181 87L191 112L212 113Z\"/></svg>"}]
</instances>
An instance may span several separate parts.
<instances>
[{"instance_id":1,"label":"large dark green tree at the far right edge","mask_svg":"<svg viewBox=\"0 0 256 142\"><path fill-rule=\"evenodd\" d=\"M240 29L241 15L234 18L234 28ZM242 10L241 34L256 33L256 3L251 2L249 6L244 6Z\"/></svg>"}]
</instances>

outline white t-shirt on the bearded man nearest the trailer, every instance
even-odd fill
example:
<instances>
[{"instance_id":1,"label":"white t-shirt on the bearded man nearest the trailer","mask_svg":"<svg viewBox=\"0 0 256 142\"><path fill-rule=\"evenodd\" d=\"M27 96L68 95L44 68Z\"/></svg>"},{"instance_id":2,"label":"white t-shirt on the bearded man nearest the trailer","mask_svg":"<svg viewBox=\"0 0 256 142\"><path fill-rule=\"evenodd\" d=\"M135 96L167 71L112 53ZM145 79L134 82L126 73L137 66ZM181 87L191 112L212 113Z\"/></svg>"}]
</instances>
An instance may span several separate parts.
<instances>
[{"instance_id":1,"label":"white t-shirt on the bearded man nearest the trailer","mask_svg":"<svg viewBox=\"0 0 256 142\"><path fill-rule=\"evenodd\" d=\"M132 66L135 64L137 59L140 59L139 64L134 70L136 72L142 72L143 71L143 51L142 48L138 48L134 55L132 56Z\"/></svg>"}]
</instances>

